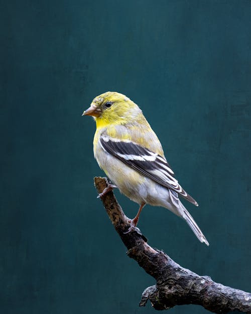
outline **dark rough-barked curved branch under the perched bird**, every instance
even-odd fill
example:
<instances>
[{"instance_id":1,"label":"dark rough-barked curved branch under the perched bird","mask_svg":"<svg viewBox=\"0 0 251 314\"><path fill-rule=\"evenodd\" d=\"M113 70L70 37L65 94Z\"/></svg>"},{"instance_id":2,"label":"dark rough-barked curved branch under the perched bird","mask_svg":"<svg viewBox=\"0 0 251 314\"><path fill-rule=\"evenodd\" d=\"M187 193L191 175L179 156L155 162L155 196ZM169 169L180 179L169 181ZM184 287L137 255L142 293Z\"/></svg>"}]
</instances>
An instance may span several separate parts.
<instances>
[{"instance_id":1,"label":"dark rough-barked curved branch under the perched bird","mask_svg":"<svg viewBox=\"0 0 251 314\"><path fill-rule=\"evenodd\" d=\"M103 191L107 183L107 178L94 178L98 193ZM101 200L113 227L128 249L129 257L156 279L156 285L143 292L140 306L145 306L149 299L158 310L175 305L198 304L214 313L237 310L251 314L251 293L224 286L208 276L199 276L181 267L163 251L149 246L138 228L124 234L130 227L130 219L124 215L113 192L108 192Z\"/></svg>"}]
</instances>

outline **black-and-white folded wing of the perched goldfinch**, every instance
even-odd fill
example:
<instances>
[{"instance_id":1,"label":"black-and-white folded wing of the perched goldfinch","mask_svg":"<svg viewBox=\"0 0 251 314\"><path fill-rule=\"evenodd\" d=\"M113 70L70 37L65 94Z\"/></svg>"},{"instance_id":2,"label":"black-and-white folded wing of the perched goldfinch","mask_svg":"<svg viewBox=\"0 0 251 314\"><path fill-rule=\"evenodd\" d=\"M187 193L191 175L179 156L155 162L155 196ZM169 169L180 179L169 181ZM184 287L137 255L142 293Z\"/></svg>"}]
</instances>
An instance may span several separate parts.
<instances>
[{"instance_id":1,"label":"black-and-white folded wing of the perched goldfinch","mask_svg":"<svg viewBox=\"0 0 251 314\"><path fill-rule=\"evenodd\" d=\"M104 151L121 160L153 181L172 189L198 206L198 203L180 186L166 158L130 140L100 137Z\"/></svg>"}]
</instances>

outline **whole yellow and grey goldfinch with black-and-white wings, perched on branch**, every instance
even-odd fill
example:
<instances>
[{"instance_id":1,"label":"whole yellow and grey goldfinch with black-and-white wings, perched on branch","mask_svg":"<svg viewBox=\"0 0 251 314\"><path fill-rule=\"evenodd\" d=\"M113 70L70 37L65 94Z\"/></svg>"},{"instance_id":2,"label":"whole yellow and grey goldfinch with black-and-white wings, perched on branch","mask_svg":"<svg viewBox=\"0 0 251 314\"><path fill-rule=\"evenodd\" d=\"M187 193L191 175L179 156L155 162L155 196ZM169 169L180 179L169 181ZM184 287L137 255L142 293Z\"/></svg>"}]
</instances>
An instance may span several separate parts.
<instances>
[{"instance_id":1,"label":"whole yellow and grey goldfinch with black-and-white wings, perched on branch","mask_svg":"<svg viewBox=\"0 0 251 314\"><path fill-rule=\"evenodd\" d=\"M93 151L98 165L122 194L140 204L128 232L137 226L145 204L151 204L183 218L199 241L209 245L178 196L198 203L174 178L161 143L137 104L107 91L93 99L83 116L92 116L96 122ZM113 187L110 184L100 196Z\"/></svg>"}]
</instances>

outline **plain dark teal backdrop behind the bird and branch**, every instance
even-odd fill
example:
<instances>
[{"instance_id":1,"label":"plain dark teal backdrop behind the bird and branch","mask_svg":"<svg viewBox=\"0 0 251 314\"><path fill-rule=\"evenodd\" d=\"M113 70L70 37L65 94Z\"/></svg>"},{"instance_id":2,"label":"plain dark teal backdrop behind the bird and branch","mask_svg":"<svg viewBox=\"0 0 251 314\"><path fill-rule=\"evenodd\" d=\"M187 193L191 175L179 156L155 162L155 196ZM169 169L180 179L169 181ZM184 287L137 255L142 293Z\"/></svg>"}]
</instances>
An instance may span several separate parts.
<instances>
[{"instance_id":1,"label":"plain dark teal backdrop behind the bird and branch","mask_svg":"<svg viewBox=\"0 0 251 314\"><path fill-rule=\"evenodd\" d=\"M0 15L1 313L155 312L138 307L155 281L127 257L93 187L103 172L81 114L107 90L144 111L210 246L146 206L149 244L250 292L250 1L11 0ZM115 193L134 217L138 205Z\"/></svg>"}]
</instances>

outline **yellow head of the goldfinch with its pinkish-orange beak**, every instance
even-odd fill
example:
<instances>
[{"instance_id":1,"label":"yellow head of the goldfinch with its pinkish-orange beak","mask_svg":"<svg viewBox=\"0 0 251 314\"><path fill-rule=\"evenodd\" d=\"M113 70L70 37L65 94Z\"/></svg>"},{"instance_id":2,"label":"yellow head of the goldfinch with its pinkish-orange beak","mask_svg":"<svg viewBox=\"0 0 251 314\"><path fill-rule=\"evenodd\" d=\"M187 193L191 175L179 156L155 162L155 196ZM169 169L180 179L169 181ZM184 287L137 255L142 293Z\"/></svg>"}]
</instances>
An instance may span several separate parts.
<instances>
[{"instance_id":1,"label":"yellow head of the goldfinch with its pinkish-orange beak","mask_svg":"<svg viewBox=\"0 0 251 314\"><path fill-rule=\"evenodd\" d=\"M142 111L127 96L115 91L107 91L95 97L82 116L92 116L97 125L125 124L135 121Z\"/></svg>"}]
</instances>

